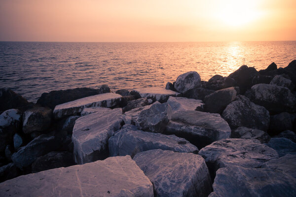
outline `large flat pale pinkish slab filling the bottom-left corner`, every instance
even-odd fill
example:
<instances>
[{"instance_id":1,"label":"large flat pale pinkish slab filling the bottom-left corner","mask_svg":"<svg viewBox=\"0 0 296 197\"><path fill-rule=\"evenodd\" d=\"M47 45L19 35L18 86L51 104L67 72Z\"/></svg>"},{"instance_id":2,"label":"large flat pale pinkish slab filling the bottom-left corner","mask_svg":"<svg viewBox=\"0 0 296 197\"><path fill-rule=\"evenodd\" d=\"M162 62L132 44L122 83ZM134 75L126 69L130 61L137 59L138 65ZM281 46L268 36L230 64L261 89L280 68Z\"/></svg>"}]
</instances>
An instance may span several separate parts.
<instances>
[{"instance_id":1,"label":"large flat pale pinkish slab filling the bottom-left corner","mask_svg":"<svg viewBox=\"0 0 296 197\"><path fill-rule=\"evenodd\" d=\"M0 194L7 197L115 197L121 190L133 197L153 197L151 182L130 156L50 169L0 183Z\"/></svg>"}]
</instances>

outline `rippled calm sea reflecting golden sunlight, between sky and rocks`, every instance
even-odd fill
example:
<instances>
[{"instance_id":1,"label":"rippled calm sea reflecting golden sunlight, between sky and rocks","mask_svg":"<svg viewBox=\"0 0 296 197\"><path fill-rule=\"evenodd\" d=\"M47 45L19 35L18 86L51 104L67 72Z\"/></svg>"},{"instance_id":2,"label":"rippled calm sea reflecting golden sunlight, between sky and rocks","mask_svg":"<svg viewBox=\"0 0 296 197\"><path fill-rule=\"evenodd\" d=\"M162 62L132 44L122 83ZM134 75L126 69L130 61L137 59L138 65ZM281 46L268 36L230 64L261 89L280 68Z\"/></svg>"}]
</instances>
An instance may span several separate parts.
<instances>
[{"instance_id":1,"label":"rippled calm sea reflecting golden sunlight, between sky and rocks","mask_svg":"<svg viewBox=\"0 0 296 197\"><path fill-rule=\"evenodd\" d=\"M0 87L29 101L44 92L108 84L112 91L165 86L195 70L202 80L242 65L288 66L296 41L79 43L0 42Z\"/></svg>"}]
</instances>

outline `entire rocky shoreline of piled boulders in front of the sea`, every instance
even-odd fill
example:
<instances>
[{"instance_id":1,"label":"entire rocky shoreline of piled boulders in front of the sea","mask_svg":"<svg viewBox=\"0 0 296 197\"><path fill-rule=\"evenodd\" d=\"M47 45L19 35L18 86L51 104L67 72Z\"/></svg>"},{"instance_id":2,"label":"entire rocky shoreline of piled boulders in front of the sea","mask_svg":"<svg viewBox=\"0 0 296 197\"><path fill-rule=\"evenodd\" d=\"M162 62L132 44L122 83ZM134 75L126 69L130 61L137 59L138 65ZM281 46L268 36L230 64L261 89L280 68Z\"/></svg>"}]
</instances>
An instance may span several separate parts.
<instances>
[{"instance_id":1,"label":"entire rocky shoreline of piled boulders in front of the sea","mask_svg":"<svg viewBox=\"0 0 296 197\"><path fill-rule=\"evenodd\" d=\"M166 87L0 89L0 197L296 195L296 60Z\"/></svg>"}]
</instances>

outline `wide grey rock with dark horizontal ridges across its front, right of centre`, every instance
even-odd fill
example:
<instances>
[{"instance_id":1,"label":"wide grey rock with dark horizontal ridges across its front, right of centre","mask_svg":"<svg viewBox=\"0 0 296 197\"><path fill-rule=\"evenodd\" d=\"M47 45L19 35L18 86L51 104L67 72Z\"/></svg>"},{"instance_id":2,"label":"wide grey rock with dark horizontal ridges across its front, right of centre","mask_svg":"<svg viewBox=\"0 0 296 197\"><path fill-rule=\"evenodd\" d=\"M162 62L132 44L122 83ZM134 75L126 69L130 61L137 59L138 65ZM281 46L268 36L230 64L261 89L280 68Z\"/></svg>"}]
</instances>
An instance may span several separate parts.
<instances>
[{"instance_id":1,"label":"wide grey rock with dark horizontal ridges across its front, right of centre","mask_svg":"<svg viewBox=\"0 0 296 197\"><path fill-rule=\"evenodd\" d=\"M230 137L230 128L220 114L200 111L181 111L174 113L166 134L175 134L187 139L199 149L219 139Z\"/></svg>"}]
</instances>

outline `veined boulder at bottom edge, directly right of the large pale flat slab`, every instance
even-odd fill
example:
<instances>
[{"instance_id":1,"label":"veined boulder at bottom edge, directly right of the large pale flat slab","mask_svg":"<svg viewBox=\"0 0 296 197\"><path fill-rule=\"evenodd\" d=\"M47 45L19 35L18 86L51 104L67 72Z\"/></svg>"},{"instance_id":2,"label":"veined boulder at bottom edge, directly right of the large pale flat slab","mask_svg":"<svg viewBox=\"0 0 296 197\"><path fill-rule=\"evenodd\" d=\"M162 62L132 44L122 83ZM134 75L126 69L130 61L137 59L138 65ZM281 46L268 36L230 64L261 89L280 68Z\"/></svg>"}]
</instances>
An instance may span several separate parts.
<instances>
[{"instance_id":1,"label":"veined boulder at bottom edge, directly right of the large pale flat slab","mask_svg":"<svg viewBox=\"0 0 296 197\"><path fill-rule=\"evenodd\" d=\"M157 149L138 153L134 161L157 197L207 197L211 192L208 167L199 155Z\"/></svg>"}]
</instances>

